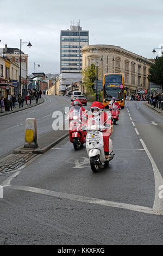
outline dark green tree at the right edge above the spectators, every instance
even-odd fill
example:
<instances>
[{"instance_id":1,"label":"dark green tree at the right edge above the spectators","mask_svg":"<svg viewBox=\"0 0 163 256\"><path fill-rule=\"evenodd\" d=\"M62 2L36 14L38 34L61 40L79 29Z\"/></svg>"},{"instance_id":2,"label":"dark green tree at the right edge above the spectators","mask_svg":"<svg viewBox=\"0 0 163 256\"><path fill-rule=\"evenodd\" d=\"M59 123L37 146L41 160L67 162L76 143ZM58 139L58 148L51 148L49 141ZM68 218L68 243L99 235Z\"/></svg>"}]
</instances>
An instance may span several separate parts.
<instances>
[{"instance_id":1,"label":"dark green tree at the right edge above the spectators","mask_svg":"<svg viewBox=\"0 0 163 256\"><path fill-rule=\"evenodd\" d=\"M163 56L155 58L155 63L149 68L148 80L160 84L163 90Z\"/></svg>"}]
</instances>

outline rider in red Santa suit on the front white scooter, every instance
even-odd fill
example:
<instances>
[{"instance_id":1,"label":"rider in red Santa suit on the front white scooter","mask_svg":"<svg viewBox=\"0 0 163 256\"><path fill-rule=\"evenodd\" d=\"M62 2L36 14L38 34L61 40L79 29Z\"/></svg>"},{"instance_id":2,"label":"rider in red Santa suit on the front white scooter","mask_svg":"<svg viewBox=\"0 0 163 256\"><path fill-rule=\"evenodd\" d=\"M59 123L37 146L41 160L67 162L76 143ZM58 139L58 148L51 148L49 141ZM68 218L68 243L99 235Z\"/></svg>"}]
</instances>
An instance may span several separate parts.
<instances>
[{"instance_id":1,"label":"rider in red Santa suit on the front white scooter","mask_svg":"<svg viewBox=\"0 0 163 256\"><path fill-rule=\"evenodd\" d=\"M109 159L109 137L112 133L112 129L110 127L112 125L112 120L106 121L109 118L109 115L104 112L104 108L105 107L102 102L94 101L92 103L92 114L89 115L87 127L89 129L93 124L98 124L99 126L104 126L106 124L107 127L103 128L101 131L103 131L105 158Z\"/></svg>"}]
</instances>

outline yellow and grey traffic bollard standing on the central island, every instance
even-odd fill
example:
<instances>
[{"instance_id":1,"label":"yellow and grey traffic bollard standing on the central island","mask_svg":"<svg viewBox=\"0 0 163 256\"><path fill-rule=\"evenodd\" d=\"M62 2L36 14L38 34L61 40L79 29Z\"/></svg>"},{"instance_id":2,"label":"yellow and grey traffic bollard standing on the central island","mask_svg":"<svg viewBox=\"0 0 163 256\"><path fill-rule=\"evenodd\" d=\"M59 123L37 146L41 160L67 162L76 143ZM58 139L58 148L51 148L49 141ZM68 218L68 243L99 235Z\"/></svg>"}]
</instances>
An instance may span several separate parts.
<instances>
[{"instance_id":1,"label":"yellow and grey traffic bollard standing on the central island","mask_svg":"<svg viewBox=\"0 0 163 256\"><path fill-rule=\"evenodd\" d=\"M37 126L35 118L27 118L25 124L24 148L37 148Z\"/></svg>"}]
</instances>

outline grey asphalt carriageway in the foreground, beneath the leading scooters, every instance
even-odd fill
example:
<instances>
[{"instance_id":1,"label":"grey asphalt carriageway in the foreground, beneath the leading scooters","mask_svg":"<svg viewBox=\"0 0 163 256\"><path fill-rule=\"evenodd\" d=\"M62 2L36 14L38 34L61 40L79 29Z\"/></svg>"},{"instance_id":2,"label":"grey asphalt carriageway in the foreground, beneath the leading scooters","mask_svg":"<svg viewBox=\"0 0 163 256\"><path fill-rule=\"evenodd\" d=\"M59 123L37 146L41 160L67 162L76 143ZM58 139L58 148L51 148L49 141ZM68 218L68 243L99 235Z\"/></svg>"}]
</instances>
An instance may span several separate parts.
<instances>
[{"instance_id":1,"label":"grey asphalt carriageway in the foreground, beneath the leading scooters","mask_svg":"<svg viewBox=\"0 0 163 256\"><path fill-rule=\"evenodd\" d=\"M41 117L51 114L43 109ZM67 137L21 172L0 175L0 244L162 245L162 124L127 101L106 169L93 173L85 147L74 151Z\"/></svg>"}]
</instances>

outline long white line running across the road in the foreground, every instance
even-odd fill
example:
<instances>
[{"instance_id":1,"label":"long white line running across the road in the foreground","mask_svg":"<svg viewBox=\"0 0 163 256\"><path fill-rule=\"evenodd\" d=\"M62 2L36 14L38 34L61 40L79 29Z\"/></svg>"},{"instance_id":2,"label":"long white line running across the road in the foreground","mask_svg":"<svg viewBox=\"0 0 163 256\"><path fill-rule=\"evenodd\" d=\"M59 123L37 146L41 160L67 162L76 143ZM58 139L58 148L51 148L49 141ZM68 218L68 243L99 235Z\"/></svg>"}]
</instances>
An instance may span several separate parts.
<instances>
[{"instance_id":1,"label":"long white line running across the road in the foreground","mask_svg":"<svg viewBox=\"0 0 163 256\"><path fill-rule=\"evenodd\" d=\"M28 192L38 193L38 194L46 194L47 196L51 196L51 197L73 200L73 201L83 202L87 204L97 204L97 205L103 205L108 207L121 208L121 209L130 210L130 211L144 212L145 214L163 215L163 211L154 211L152 208L148 208L140 205L118 203L118 202L112 202L109 200L103 200L103 199L92 198L92 197L83 197L83 196L78 196L76 194L66 194L66 193L57 192L57 191L43 190L41 188L36 188L36 187L11 186L11 188L14 188L15 190L23 190L23 191L28 191Z\"/></svg>"}]
</instances>

